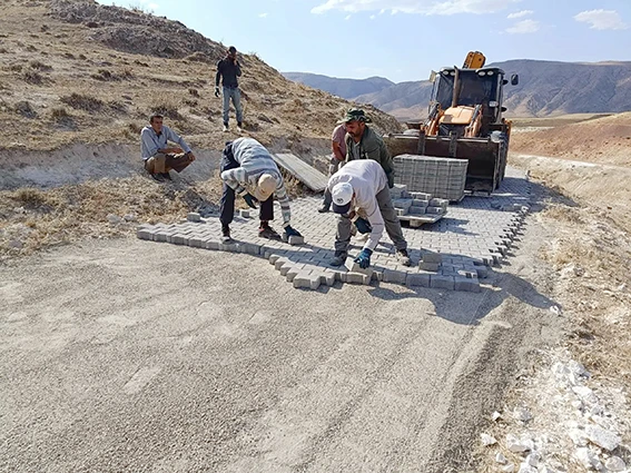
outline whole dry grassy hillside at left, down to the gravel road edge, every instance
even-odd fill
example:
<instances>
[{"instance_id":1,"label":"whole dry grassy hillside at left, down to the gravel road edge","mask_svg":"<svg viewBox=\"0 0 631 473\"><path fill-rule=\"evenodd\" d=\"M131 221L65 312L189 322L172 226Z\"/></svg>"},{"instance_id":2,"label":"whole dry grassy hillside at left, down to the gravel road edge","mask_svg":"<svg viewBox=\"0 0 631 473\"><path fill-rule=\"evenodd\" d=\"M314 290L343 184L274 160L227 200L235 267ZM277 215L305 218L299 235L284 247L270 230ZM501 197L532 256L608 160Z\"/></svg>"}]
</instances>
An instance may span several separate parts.
<instances>
[{"instance_id":1,"label":"whole dry grassy hillside at left, down to the gravel road edge","mask_svg":"<svg viewBox=\"0 0 631 473\"><path fill-rule=\"evenodd\" d=\"M139 9L2 0L0 263L80 238L131 235L139 221L213 211L220 150L237 136L221 131L214 97L225 50ZM246 134L322 165L314 157L329 152L335 121L353 104L286 80L256 55L240 62ZM393 117L365 108L381 131L401 129ZM142 171L139 131L152 111L198 157L174 183ZM290 180L288 187L302 191Z\"/></svg>"}]
</instances>

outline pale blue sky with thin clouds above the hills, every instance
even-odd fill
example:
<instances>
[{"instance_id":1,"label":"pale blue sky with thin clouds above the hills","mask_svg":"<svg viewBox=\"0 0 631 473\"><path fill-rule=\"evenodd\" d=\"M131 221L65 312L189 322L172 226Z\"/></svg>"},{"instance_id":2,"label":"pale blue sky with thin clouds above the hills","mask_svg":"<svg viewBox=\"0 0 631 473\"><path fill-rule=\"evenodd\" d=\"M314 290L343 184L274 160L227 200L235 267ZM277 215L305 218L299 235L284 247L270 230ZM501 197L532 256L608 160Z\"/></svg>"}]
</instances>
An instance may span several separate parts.
<instances>
[{"instance_id":1,"label":"pale blue sky with thin clouds above the hills","mask_svg":"<svg viewBox=\"0 0 631 473\"><path fill-rule=\"evenodd\" d=\"M111 1L99 0L111 4ZM116 0L140 7L279 71L426 79L487 61L631 60L631 0Z\"/></svg>"}]
</instances>

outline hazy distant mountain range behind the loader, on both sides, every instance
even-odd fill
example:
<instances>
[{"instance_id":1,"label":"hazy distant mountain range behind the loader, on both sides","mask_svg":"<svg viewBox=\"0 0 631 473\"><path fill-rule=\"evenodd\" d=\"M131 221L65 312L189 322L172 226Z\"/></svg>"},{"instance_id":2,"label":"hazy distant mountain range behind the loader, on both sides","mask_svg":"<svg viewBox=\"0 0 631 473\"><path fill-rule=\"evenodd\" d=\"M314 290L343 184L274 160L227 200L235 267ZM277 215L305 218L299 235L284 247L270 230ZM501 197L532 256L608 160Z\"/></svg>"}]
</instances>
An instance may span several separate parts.
<instances>
[{"instance_id":1,"label":"hazy distant mountain range behind the loader, on both sides","mask_svg":"<svg viewBox=\"0 0 631 473\"><path fill-rule=\"evenodd\" d=\"M519 86L506 86L507 115L545 117L563 114L631 110L630 62L559 62L516 59L489 66L519 73ZM327 76L284 73L290 80L372 104L400 120L426 115L432 93L428 80L394 83L385 78L336 79ZM368 90L373 88L373 90Z\"/></svg>"}]
</instances>

